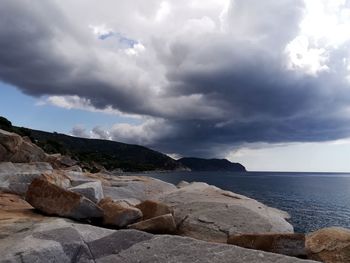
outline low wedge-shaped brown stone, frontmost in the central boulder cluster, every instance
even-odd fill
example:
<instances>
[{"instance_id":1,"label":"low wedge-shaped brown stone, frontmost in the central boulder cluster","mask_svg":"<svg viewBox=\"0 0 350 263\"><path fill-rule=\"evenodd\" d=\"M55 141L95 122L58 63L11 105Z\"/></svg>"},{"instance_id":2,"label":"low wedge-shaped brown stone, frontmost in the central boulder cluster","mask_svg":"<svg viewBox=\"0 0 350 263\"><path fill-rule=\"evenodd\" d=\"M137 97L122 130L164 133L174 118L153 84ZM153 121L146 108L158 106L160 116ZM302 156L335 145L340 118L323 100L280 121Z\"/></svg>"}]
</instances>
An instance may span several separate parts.
<instances>
[{"instance_id":1,"label":"low wedge-shaped brown stone, frontmost in the central boulder cluster","mask_svg":"<svg viewBox=\"0 0 350 263\"><path fill-rule=\"evenodd\" d=\"M176 224L173 215L166 214L137 222L128 228L153 234L173 234L176 231Z\"/></svg>"}]
</instances>

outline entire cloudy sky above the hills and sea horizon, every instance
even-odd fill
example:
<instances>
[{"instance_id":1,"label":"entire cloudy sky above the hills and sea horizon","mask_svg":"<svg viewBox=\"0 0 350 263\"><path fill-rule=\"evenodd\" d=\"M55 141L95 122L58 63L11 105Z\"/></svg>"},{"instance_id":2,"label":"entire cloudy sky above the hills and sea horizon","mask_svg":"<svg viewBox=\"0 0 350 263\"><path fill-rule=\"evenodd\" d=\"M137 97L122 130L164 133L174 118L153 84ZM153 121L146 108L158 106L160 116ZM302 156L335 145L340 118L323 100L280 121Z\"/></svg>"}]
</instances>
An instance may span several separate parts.
<instances>
[{"instance_id":1,"label":"entire cloudy sky above the hills and sea horizon","mask_svg":"<svg viewBox=\"0 0 350 263\"><path fill-rule=\"evenodd\" d=\"M2 0L0 115L248 170L350 172L350 1Z\"/></svg>"}]
</instances>

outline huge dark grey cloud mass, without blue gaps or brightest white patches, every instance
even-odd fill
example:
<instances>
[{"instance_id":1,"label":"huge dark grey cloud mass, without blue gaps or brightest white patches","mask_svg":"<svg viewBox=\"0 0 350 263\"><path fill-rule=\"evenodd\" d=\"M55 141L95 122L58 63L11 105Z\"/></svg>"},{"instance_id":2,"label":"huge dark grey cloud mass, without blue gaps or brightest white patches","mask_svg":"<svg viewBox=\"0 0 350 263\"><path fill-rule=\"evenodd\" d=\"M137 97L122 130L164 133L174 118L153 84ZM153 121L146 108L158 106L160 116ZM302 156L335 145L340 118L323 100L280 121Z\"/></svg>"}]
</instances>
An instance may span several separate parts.
<instances>
[{"instance_id":1,"label":"huge dark grey cloud mass, without blue gaps or brightest white patches","mask_svg":"<svg viewBox=\"0 0 350 263\"><path fill-rule=\"evenodd\" d=\"M88 16L68 1L2 1L0 79L33 96L77 95L147 116L137 126L73 132L169 153L222 156L245 142L350 136L347 43L327 50L327 70L288 68L303 1L236 0L222 10L214 2L176 1L168 13L160 1L75 2L96 5ZM113 28L96 27L104 21Z\"/></svg>"}]
</instances>

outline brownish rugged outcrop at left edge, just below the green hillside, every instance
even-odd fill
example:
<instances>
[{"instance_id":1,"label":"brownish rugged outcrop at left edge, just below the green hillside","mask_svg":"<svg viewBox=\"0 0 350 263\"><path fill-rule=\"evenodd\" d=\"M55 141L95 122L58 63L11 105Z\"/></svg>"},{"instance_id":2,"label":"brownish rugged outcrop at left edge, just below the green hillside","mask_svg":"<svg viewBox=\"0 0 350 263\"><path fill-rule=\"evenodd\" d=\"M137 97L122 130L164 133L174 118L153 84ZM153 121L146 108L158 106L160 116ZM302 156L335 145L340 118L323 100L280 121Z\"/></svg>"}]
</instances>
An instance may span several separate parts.
<instances>
[{"instance_id":1,"label":"brownish rugged outcrop at left edge, just below the green hillside","mask_svg":"<svg viewBox=\"0 0 350 263\"><path fill-rule=\"evenodd\" d=\"M47 160L45 152L28 138L0 129L0 162L42 162Z\"/></svg>"}]
</instances>

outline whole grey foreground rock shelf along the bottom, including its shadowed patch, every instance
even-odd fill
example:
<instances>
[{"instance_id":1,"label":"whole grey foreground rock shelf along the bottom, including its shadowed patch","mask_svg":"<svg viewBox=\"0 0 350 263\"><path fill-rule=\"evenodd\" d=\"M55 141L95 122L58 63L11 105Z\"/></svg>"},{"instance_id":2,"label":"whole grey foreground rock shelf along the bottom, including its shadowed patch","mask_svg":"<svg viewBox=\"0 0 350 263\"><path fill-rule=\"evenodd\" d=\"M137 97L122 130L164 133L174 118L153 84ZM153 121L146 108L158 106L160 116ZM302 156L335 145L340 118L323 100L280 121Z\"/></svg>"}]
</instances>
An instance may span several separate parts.
<instances>
[{"instance_id":1,"label":"whole grey foreground rock shelf along the bottom, including its shadowed patch","mask_svg":"<svg viewBox=\"0 0 350 263\"><path fill-rule=\"evenodd\" d=\"M33 222L7 235L0 242L0 255L1 263L312 262L232 245L136 230L114 231L54 218Z\"/></svg>"}]
</instances>

